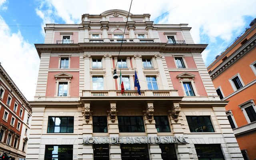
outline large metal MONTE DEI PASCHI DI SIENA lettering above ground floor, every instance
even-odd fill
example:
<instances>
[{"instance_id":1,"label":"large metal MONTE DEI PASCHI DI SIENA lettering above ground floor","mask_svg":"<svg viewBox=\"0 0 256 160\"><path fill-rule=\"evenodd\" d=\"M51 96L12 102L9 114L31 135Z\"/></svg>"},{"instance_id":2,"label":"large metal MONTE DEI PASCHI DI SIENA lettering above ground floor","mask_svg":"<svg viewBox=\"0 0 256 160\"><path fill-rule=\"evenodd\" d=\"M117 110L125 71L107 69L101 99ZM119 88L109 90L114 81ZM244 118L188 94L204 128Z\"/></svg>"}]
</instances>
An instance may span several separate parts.
<instances>
[{"instance_id":1,"label":"large metal MONTE DEI PASCHI DI SIENA lettering above ground floor","mask_svg":"<svg viewBox=\"0 0 256 160\"><path fill-rule=\"evenodd\" d=\"M84 144L169 144L188 143L184 137L157 136L157 137L86 137Z\"/></svg>"}]
</instances>

